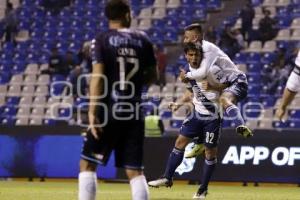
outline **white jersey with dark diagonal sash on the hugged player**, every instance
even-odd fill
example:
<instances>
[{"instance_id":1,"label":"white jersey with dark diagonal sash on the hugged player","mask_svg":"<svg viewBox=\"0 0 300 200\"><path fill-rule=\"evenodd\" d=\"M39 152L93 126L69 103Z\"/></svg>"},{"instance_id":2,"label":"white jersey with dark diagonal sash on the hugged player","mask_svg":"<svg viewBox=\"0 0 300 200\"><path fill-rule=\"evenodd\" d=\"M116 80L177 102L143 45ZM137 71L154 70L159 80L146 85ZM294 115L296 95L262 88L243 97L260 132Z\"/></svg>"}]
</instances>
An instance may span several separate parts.
<instances>
[{"instance_id":1,"label":"white jersey with dark diagonal sash on the hugged player","mask_svg":"<svg viewBox=\"0 0 300 200\"><path fill-rule=\"evenodd\" d=\"M202 66L200 66L201 68ZM189 70L191 72L195 72L197 69L192 68L189 65ZM199 98L199 91L198 89L200 89L201 93L204 94L204 96L210 100L211 102L213 102L217 108L217 111L219 110L219 97L220 97L220 92L215 91L215 90L204 90L202 87L202 80L201 79L195 79L196 84L198 86L198 88L196 87L192 87L193 90L193 104L195 106L195 110L203 115L209 115L211 114L211 112L205 107L205 105L203 104L203 101L201 100L201 98Z\"/></svg>"}]
</instances>

